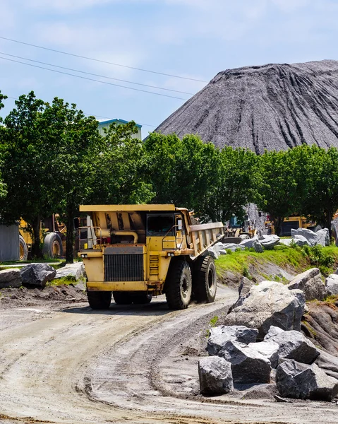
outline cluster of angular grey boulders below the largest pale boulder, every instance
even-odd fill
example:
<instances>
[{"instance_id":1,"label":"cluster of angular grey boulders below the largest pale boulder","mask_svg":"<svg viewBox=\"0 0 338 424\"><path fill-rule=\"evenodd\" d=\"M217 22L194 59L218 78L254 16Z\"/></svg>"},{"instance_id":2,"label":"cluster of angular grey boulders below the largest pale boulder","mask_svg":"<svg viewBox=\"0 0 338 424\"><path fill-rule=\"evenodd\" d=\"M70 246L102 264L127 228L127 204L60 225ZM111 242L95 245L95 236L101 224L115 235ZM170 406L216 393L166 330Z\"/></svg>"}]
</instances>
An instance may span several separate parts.
<instances>
[{"instance_id":1,"label":"cluster of angular grey boulders below the largest pale boulder","mask_svg":"<svg viewBox=\"0 0 338 424\"><path fill-rule=\"evenodd\" d=\"M254 329L221 326L212 330L207 341L212 356L198 365L202 394L227 394L234 384L270 383L275 369L282 396L322 401L337 396L338 380L314 363L320 351L301 332L272 326L264 341L246 343L255 334ZM251 336L241 338L245 333ZM325 367L327 362L323 361Z\"/></svg>"}]
</instances>

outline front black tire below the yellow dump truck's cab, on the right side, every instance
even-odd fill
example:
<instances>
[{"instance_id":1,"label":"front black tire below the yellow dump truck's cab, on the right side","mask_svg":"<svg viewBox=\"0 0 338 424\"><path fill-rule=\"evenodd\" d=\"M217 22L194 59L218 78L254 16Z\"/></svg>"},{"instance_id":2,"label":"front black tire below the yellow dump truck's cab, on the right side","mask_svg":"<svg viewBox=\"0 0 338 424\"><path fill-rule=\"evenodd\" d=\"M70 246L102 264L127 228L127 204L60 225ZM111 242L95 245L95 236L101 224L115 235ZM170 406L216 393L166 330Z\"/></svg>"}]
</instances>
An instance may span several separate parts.
<instances>
[{"instance_id":1,"label":"front black tire below the yellow dump truck's cab, on the right side","mask_svg":"<svg viewBox=\"0 0 338 424\"><path fill-rule=\"evenodd\" d=\"M169 309L186 309L191 301L192 291L191 269L188 262L172 261L165 283Z\"/></svg>"}]
</instances>

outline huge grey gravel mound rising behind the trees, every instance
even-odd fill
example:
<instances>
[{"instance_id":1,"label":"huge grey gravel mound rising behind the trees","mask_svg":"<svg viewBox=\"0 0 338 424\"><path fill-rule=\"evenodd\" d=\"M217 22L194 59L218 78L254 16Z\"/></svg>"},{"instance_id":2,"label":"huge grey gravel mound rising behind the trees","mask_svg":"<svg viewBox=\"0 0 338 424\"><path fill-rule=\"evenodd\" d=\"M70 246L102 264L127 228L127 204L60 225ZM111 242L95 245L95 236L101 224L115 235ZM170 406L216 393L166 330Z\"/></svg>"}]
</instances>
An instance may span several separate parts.
<instances>
[{"instance_id":1,"label":"huge grey gravel mound rising behind the trees","mask_svg":"<svg viewBox=\"0 0 338 424\"><path fill-rule=\"evenodd\" d=\"M219 72L155 131L255 153L302 143L338 147L338 61Z\"/></svg>"}]
</instances>

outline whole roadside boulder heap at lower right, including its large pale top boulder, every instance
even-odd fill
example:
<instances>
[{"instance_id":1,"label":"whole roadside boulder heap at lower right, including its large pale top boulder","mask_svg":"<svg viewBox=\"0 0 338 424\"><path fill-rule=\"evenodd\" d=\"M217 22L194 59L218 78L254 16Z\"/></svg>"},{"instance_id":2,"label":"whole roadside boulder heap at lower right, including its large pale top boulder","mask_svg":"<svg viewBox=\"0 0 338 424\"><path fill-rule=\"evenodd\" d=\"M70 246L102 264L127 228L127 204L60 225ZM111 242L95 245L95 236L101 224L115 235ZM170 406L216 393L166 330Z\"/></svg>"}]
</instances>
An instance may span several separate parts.
<instances>
[{"instance_id":1,"label":"whole roadside boulder heap at lower right, including its large pale top boulder","mask_svg":"<svg viewBox=\"0 0 338 424\"><path fill-rule=\"evenodd\" d=\"M199 365L201 393L224 394L232 390L231 385L275 382L281 396L334 399L338 358L332 362L332 355L301 333L306 297L322 296L322 288L318 269L300 274L289 285L265 281L248 286L225 325L210 329L210 357Z\"/></svg>"}]
</instances>

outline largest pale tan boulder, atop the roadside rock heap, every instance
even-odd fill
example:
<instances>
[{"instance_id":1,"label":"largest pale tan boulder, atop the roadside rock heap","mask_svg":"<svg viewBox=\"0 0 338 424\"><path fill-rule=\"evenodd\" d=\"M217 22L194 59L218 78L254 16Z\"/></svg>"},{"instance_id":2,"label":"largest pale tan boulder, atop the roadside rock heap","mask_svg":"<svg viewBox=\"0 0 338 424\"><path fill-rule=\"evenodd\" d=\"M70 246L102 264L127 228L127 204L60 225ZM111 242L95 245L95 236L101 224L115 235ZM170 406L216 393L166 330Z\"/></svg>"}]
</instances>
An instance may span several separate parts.
<instances>
[{"instance_id":1,"label":"largest pale tan boulder, atop the roadside rock heap","mask_svg":"<svg viewBox=\"0 0 338 424\"><path fill-rule=\"evenodd\" d=\"M260 339L264 338L272 325L300 331L305 303L302 290L289 290L282 283L265 281L253 285L243 304L227 315L224 324L258 329Z\"/></svg>"}]
</instances>

